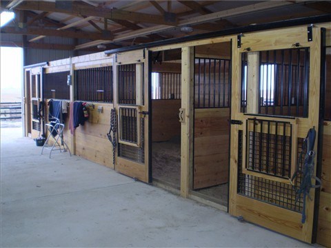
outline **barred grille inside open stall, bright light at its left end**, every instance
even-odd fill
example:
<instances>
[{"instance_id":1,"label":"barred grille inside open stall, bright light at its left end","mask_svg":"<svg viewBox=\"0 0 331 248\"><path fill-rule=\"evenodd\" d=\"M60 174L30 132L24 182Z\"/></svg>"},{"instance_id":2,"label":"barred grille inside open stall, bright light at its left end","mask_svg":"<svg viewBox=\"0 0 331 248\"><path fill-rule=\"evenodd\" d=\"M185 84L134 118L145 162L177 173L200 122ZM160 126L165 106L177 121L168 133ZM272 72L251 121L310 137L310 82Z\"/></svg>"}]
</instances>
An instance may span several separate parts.
<instances>
[{"instance_id":1,"label":"barred grille inside open stall, bright light at its left end","mask_svg":"<svg viewBox=\"0 0 331 248\"><path fill-rule=\"evenodd\" d=\"M181 99L181 73L152 72L152 99Z\"/></svg>"}]
</instances>

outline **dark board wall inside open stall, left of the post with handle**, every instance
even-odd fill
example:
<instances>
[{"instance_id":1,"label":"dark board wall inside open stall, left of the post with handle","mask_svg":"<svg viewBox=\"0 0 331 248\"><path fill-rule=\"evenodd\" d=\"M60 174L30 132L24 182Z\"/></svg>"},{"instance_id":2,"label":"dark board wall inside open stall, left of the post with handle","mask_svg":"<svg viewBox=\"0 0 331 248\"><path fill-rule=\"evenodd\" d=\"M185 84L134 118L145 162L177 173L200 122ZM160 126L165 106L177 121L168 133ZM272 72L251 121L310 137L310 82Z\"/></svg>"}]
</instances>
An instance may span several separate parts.
<instances>
[{"instance_id":1,"label":"dark board wall inside open stall, left of the post with handle","mask_svg":"<svg viewBox=\"0 0 331 248\"><path fill-rule=\"evenodd\" d=\"M152 141L169 141L181 135L178 112L181 100L152 100Z\"/></svg>"}]
</instances>

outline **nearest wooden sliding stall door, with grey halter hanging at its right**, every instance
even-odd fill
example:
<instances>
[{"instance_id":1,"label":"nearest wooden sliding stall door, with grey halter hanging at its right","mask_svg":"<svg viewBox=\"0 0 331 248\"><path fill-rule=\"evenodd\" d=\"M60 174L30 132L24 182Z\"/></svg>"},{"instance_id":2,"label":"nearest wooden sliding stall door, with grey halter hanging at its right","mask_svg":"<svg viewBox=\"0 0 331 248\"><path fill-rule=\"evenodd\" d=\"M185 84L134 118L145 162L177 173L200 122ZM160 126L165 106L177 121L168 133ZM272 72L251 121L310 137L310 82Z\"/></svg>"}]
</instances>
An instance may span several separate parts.
<instances>
[{"instance_id":1,"label":"nearest wooden sliding stall door, with grey halter hanging at its right","mask_svg":"<svg viewBox=\"0 0 331 248\"><path fill-rule=\"evenodd\" d=\"M301 175L295 187L290 178L308 130L319 132L321 31L288 28L240 38L232 44L230 214L311 242L314 189L301 223L303 197L295 192Z\"/></svg>"}]
</instances>

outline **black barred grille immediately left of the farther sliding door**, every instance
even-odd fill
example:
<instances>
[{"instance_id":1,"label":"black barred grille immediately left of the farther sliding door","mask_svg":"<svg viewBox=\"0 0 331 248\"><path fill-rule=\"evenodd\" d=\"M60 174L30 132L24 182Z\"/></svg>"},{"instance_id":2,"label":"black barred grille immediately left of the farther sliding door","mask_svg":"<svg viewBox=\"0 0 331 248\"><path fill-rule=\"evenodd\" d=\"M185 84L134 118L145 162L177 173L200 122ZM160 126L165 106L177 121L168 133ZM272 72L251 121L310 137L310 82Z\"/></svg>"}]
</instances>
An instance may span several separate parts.
<instances>
[{"instance_id":1,"label":"black barred grille immediately left of the farther sliding door","mask_svg":"<svg viewBox=\"0 0 331 248\"><path fill-rule=\"evenodd\" d=\"M112 102L112 66L74 71L77 100Z\"/></svg>"}]
</instances>

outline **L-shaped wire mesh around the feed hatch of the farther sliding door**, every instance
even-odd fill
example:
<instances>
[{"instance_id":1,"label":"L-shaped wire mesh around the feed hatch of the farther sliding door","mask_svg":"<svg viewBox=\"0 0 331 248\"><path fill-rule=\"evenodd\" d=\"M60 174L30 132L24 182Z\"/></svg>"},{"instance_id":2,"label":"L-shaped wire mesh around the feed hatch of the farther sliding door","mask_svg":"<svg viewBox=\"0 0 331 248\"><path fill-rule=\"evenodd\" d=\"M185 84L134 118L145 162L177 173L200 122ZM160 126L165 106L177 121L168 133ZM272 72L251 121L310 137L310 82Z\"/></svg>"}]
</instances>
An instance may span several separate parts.
<instances>
[{"instance_id":1,"label":"L-shaped wire mesh around the feed hatch of the farther sliding door","mask_svg":"<svg viewBox=\"0 0 331 248\"><path fill-rule=\"evenodd\" d=\"M140 147L119 143L119 156L137 163L145 163L145 119L140 118L141 134L139 136Z\"/></svg>"}]
</instances>

